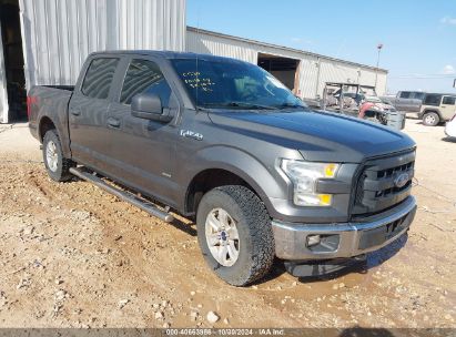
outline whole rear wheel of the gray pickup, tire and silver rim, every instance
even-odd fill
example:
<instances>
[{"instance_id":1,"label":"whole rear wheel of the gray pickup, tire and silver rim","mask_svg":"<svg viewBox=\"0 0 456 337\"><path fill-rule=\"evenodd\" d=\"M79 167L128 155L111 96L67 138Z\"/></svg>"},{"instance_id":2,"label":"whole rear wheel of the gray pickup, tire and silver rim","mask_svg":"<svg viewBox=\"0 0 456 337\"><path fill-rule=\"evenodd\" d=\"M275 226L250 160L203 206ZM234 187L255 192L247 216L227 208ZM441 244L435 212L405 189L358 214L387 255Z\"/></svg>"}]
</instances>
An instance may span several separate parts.
<instances>
[{"instance_id":1,"label":"whole rear wheel of the gray pickup, tire and silver rim","mask_svg":"<svg viewBox=\"0 0 456 337\"><path fill-rule=\"evenodd\" d=\"M55 182L69 181L72 175L70 167L74 162L65 159L55 130L49 130L43 137L43 161L48 175Z\"/></svg>"}]
</instances>

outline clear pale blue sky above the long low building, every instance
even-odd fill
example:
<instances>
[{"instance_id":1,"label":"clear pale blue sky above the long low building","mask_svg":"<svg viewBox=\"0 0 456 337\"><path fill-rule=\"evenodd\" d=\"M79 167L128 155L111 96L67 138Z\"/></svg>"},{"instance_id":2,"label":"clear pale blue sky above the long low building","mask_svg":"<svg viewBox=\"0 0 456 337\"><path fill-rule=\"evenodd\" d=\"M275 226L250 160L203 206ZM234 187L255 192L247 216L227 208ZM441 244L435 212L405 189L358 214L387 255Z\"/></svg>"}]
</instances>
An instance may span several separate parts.
<instances>
[{"instance_id":1,"label":"clear pale blue sky above the long low building","mask_svg":"<svg viewBox=\"0 0 456 337\"><path fill-rule=\"evenodd\" d=\"M188 0L186 22L368 65L383 43L389 93L456 93L456 0Z\"/></svg>"}]
</instances>

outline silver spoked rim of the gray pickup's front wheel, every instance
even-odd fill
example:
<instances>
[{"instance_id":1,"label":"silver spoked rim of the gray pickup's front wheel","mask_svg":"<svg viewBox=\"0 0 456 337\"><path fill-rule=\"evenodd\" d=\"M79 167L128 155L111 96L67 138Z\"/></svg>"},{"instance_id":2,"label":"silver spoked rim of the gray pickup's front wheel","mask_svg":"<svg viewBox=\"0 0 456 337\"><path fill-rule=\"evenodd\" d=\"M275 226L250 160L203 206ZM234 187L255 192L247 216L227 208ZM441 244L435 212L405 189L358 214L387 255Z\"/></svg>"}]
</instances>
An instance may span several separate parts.
<instances>
[{"instance_id":1,"label":"silver spoked rim of the gray pickup's front wheel","mask_svg":"<svg viewBox=\"0 0 456 337\"><path fill-rule=\"evenodd\" d=\"M212 257L222 266L230 267L239 258L240 239L236 222L223 208L214 208L207 214L205 237Z\"/></svg>"}]
</instances>

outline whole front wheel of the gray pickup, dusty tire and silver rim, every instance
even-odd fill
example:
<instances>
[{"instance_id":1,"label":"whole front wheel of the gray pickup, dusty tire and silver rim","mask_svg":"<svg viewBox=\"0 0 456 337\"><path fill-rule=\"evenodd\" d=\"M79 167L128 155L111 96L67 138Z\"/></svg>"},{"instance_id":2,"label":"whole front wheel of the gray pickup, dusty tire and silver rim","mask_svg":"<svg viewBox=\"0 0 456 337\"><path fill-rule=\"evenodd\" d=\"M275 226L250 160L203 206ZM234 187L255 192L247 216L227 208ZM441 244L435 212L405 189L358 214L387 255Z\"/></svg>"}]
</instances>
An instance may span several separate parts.
<instances>
[{"instance_id":1,"label":"whole front wheel of the gray pickup, dusty tire and silver rim","mask_svg":"<svg viewBox=\"0 0 456 337\"><path fill-rule=\"evenodd\" d=\"M245 286L262 278L274 262L274 236L264 204L240 185L207 192L197 208L201 251L220 278Z\"/></svg>"}]
</instances>

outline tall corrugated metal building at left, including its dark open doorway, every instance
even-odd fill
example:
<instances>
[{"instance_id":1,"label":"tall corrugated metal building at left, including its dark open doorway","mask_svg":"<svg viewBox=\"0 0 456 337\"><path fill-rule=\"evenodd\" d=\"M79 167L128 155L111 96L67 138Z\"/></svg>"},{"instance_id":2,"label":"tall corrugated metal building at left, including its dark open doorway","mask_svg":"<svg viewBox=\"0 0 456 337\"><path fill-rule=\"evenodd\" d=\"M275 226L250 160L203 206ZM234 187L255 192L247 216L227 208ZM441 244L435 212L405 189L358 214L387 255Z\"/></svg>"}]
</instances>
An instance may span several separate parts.
<instances>
[{"instance_id":1,"label":"tall corrugated metal building at left, including its dark open doorway","mask_svg":"<svg viewBox=\"0 0 456 337\"><path fill-rule=\"evenodd\" d=\"M0 0L0 122L34 84L74 84L98 50L185 49L185 0Z\"/></svg>"}]
</instances>

